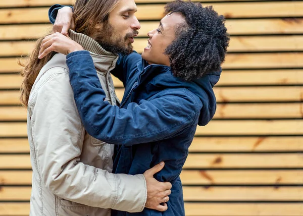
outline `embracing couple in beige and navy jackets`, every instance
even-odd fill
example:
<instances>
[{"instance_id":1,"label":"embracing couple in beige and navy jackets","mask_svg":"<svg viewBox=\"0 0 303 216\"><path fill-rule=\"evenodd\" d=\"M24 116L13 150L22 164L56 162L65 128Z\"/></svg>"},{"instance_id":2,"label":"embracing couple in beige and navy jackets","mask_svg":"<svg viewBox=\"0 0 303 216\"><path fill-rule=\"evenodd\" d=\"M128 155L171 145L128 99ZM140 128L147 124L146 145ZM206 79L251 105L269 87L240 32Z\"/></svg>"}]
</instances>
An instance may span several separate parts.
<instances>
[{"instance_id":1,"label":"embracing couple in beige and navy jackets","mask_svg":"<svg viewBox=\"0 0 303 216\"><path fill-rule=\"evenodd\" d=\"M141 55L134 0L54 5L21 72L30 215L185 215L180 173L229 44L212 7L173 1ZM123 82L122 101L112 75Z\"/></svg>"}]
</instances>

